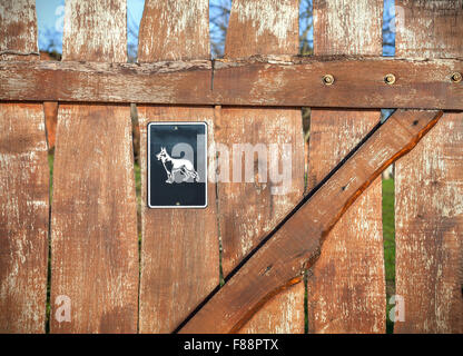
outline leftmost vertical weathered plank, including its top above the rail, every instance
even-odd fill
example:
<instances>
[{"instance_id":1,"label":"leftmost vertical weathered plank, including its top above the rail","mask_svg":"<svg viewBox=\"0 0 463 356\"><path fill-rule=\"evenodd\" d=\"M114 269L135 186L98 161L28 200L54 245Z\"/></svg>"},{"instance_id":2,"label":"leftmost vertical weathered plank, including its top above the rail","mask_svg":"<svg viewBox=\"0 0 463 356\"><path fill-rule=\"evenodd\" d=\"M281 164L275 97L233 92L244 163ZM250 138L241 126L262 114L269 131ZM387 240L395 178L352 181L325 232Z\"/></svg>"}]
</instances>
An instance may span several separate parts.
<instances>
[{"instance_id":1,"label":"leftmost vertical weathered plank, including its top above the rail","mask_svg":"<svg viewBox=\"0 0 463 356\"><path fill-rule=\"evenodd\" d=\"M38 52L35 1L1 1L0 52L39 59L26 56ZM45 333L49 169L39 103L0 103L0 333Z\"/></svg>"}]
</instances>

